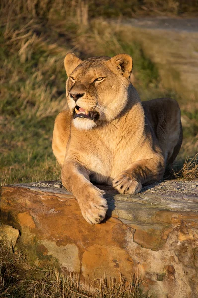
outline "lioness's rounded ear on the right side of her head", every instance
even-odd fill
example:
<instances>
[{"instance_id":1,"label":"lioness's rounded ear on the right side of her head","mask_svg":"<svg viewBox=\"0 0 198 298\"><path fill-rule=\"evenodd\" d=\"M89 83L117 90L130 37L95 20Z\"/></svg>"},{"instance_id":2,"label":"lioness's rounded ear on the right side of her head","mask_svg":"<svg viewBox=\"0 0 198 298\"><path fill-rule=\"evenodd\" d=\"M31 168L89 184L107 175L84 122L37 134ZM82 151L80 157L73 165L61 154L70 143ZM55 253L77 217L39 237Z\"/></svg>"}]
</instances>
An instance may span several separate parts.
<instances>
[{"instance_id":1,"label":"lioness's rounded ear on the right side of her head","mask_svg":"<svg viewBox=\"0 0 198 298\"><path fill-rule=\"evenodd\" d=\"M118 54L108 60L108 62L116 67L124 77L130 77L133 66L132 57L130 55Z\"/></svg>"}]
</instances>

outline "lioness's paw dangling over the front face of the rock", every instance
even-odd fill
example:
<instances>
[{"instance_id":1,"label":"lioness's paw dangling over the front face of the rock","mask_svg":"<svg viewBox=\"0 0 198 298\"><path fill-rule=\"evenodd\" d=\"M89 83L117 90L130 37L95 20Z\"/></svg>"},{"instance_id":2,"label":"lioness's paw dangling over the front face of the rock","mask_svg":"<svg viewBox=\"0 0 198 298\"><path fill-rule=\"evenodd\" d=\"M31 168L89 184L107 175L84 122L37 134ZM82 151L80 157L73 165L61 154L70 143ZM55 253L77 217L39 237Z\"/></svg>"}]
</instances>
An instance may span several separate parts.
<instances>
[{"instance_id":1,"label":"lioness's paw dangling over the front face of the rock","mask_svg":"<svg viewBox=\"0 0 198 298\"><path fill-rule=\"evenodd\" d=\"M93 186L78 199L82 215L90 224L99 224L105 218L108 206L103 194L104 191Z\"/></svg>"}]
</instances>

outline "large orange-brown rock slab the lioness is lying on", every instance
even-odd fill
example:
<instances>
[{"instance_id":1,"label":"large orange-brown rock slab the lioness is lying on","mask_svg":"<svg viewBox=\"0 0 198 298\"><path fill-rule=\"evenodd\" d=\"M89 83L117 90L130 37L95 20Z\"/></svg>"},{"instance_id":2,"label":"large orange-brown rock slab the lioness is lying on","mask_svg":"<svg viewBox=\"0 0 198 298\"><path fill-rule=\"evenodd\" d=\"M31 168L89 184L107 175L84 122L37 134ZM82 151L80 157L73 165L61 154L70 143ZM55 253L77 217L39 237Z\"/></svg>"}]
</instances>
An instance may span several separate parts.
<instances>
[{"instance_id":1,"label":"large orange-brown rock slab the lioness is lying on","mask_svg":"<svg viewBox=\"0 0 198 298\"><path fill-rule=\"evenodd\" d=\"M20 230L17 247L33 264L80 272L81 283L135 274L149 295L197 298L198 181L154 183L138 195L98 187L104 223L88 224L60 181L3 186L1 223Z\"/></svg>"}]
</instances>

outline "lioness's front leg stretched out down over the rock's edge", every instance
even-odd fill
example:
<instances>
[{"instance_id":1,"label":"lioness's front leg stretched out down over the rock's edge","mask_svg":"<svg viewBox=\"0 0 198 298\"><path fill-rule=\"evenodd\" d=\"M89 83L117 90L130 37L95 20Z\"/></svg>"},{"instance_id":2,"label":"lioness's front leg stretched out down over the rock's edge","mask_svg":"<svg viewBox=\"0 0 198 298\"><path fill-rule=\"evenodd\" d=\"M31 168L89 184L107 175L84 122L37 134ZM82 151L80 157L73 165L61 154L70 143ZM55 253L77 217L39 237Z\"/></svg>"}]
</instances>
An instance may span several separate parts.
<instances>
[{"instance_id":1,"label":"lioness's front leg stretched out down over the rock's edge","mask_svg":"<svg viewBox=\"0 0 198 298\"><path fill-rule=\"evenodd\" d=\"M61 171L62 183L76 197L82 215L90 224L99 224L106 215L104 192L89 180L89 171L80 164L65 160Z\"/></svg>"}]
</instances>

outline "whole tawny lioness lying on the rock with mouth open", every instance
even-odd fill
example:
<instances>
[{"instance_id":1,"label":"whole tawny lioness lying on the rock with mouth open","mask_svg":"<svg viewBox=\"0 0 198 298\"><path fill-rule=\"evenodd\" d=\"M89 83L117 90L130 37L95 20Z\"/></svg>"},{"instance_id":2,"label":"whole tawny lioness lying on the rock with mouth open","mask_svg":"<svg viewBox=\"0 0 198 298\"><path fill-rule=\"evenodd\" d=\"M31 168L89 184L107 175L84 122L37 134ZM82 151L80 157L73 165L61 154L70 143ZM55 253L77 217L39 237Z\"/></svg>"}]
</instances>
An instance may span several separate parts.
<instances>
[{"instance_id":1,"label":"whole tawny lioness lying on the rock with mouth open","mask_svg":"<svg viewBox=\"0 0 198 298\"><path fill-rule=\"evenodd\" d=\"M136 194L160 180L181 147L180 109L171 98L141 103L127 54L82 61L68 53L64 65L68 109L55 120L52 149L63 185L85 220L97 224L107 202L91 181Z\"/></svg>"}]
</instances>

